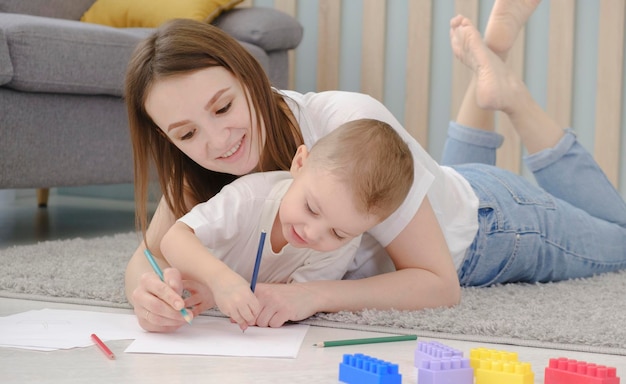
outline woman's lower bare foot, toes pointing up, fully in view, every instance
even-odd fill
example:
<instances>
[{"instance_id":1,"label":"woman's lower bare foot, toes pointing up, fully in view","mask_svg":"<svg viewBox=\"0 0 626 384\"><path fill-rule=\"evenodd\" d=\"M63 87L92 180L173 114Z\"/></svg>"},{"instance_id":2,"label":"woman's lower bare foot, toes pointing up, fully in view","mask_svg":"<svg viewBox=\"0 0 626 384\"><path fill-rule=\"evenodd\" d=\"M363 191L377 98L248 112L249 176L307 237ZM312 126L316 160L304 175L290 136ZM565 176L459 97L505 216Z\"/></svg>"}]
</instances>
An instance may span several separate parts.
<instances>
[{"instance_id":1,"label":"woman's lower bare foot, toes pointing up, fully in view","mask_svg":"<svg viewBox=\"0 0 626 384\"><path fill-rule=\"evenodd\" d=\"M450 21L450 43L454 55L474 72L476 105L512 112L516 91L523 85L502 59L485 45L468 18L459 15Z\"/></svg>"}]
</instances>

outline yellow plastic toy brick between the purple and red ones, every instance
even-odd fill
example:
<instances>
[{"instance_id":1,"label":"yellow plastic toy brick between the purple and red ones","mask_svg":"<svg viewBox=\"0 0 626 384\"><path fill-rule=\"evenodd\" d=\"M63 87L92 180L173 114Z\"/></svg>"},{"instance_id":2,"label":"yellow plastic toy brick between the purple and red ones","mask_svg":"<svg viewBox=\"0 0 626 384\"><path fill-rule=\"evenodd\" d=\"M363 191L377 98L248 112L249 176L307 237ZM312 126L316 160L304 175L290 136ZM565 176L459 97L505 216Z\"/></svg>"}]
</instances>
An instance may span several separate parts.
<instances>
[{"instance_id":1,"label":"yellow plastic toy brick between the purple and red ones","mask_svg":"<svg viewBox=\"0 0 626 384\"><path fill-rule=\"evenodd\" d=\"M470 350L475 384L533 384L535 375L529 363L518 361L517 353L495 349Z\"/></svg>"}]
</instances>

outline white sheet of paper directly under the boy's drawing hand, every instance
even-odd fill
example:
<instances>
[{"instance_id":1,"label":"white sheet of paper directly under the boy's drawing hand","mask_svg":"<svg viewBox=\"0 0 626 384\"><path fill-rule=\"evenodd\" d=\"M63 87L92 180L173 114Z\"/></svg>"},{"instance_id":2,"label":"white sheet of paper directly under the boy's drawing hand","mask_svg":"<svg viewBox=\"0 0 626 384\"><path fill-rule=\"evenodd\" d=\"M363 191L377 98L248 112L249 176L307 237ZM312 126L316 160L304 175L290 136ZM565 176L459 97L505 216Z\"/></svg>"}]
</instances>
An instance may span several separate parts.
<instances>
[{"instance_id":1,"label":"white sheet of paper directly under the boy's drawing hand","mask_svg":"<svg viewBox=\"0 0 626 384\"><path fill-rule=\"evenodd\" d=\"M144 333L124 352L296 358L308 325L250 327L245 333L225 318L200 316L174 333Z\"/></svg>"}]
</instances>

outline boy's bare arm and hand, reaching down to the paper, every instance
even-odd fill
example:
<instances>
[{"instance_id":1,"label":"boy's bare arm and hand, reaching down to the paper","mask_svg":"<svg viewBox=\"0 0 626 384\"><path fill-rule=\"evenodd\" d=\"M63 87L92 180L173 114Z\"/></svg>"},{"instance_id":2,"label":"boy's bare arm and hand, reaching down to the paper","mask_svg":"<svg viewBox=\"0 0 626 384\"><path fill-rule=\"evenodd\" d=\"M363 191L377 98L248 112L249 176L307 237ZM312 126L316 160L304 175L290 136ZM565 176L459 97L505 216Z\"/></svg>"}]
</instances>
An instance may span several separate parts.
<instances>
[{"instance_id":1,"label":"boy's bare arm and hand, reaching down to the paper","mask_svg":"<svg viewBox=\"0 0 626 384\"><path fill-rule=\"evenodd\" d=\"M161 252L183 275L206 284L220 311L241 329L255 324L260 305L249 283L214 257L189 226L176 222L163 236Z\"/></svg>"}]
</instances>

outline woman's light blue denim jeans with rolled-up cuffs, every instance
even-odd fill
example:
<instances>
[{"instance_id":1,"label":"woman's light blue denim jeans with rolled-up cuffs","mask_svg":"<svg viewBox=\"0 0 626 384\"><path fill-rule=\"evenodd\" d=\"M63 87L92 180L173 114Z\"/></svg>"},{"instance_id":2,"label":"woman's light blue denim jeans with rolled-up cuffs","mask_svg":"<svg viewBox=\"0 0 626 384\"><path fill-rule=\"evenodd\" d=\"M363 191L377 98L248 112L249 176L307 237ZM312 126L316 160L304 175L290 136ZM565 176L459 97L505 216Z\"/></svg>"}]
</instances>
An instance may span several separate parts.
<instances>
[{"instance_id":1,"label":"woman's light blue denim jeans with rolled-up cuffs","mask_svg":"<svg viewBox=\"0 0 626 384\"><path fill-rule=\"evenodd\" d=\"M571 130L524 161L537 184L497 168L502 138L451 123L442 165L480 200L463 286L548 282L626 268L626 203Z\"/></svg>"}]
</instances>

